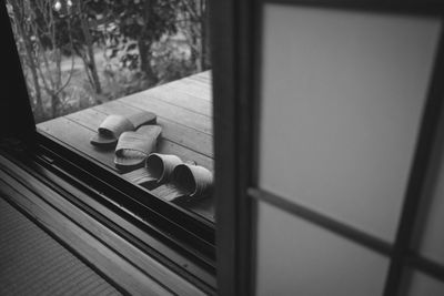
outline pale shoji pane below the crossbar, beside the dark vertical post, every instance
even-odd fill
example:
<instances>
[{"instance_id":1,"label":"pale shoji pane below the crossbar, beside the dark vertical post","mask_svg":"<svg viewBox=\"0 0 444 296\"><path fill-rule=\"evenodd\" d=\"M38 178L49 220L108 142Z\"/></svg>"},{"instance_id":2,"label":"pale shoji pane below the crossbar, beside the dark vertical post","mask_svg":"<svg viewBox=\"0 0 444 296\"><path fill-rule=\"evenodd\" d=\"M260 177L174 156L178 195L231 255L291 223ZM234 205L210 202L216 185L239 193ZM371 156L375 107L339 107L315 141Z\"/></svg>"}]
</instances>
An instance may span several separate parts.
<instances>
[{"instance_id":1,"label":"pale shoji pane below the crossbar, beside the dark vertical post","mask_svg":"<svg viewBox=\"0 0 444 296\"><path fill-rule=\"evenodd\" d=\"M382 295L389 259L260 203L256 295Z\"/></svg>"}]
</instances>

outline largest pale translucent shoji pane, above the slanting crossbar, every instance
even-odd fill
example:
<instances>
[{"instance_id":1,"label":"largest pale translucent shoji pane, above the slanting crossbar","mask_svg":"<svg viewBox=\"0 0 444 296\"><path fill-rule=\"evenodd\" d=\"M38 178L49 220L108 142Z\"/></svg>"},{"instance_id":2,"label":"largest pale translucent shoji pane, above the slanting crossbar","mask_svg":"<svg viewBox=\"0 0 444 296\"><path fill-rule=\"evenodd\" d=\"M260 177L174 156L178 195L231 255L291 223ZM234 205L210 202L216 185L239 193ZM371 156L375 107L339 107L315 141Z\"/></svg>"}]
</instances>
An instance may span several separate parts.
<instances>
[{"instance_id":1,"label":"largest pale translucent shoji pane, above the slanting crossbar","mask_svg":"<svg viewBox=\"0 0 444 296\"><path fill-rule=\"evenodd\" d=\"M264 7L260 187L393 239L441 23Z\"/></svg>"}]
</instances>

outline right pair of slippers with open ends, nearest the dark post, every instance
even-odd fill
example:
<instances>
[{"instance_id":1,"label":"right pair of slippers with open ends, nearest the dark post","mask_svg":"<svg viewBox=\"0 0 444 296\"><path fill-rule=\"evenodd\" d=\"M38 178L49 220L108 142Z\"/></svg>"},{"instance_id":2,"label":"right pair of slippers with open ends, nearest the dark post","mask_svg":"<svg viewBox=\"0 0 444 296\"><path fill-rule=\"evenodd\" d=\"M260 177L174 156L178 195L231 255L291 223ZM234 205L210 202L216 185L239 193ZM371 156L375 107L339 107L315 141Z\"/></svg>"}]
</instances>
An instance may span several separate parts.
<instances>
[{"instance_id":1,"label":"right pair of slippers with open ends, nearest the dark post","mask_svg":"<svg viewBox=\"0 0 444 296\"><path fill-rule=\"evenodd\" d=\"M151 153L144 167L123 176L169 202L189 202L210 196L214 182L213 174L205 167L184 163L176 155L159 153Z\"/></svg>"}]
</instances>

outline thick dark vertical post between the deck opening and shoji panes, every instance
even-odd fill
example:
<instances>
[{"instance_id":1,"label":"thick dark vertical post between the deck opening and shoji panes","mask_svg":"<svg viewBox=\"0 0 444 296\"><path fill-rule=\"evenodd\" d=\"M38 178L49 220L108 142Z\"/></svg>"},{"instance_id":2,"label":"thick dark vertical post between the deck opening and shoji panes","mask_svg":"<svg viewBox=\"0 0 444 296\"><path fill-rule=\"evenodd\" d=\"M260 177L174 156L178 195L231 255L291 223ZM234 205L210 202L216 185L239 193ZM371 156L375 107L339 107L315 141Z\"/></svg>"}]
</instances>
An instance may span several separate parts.
<instances>
[{"instance_id":1,"label":"thick dark vertical post between the deck opening and shoji panes","mask_svg":"<svg viewBox=\"0 0 444 296\"><path fill-rule=\"evenodd\" d=\"M220 295L254 295L256 208L248 188L256 166L258 16L255 0L210 4Z\"/></svg>"}]
</instances>

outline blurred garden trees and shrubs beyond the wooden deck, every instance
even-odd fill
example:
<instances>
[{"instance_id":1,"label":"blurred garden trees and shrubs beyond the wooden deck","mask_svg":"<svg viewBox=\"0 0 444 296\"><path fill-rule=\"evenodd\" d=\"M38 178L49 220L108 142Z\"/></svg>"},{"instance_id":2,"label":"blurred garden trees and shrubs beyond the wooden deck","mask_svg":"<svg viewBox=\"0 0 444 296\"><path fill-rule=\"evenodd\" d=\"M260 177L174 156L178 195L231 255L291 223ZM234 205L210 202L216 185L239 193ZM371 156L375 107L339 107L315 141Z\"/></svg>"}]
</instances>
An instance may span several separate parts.
<instances>
[{"instance_id":1,"label":"blurred garden trees and shrubs beyond the wooden deck","mask_svg":"<svg viewBox=\"0 0 444 296\"><path fill-rule=\"evenodd\" d=\"M210 67L208 0L7 0L37 121Z\"/></svg>"}]
</instances>

